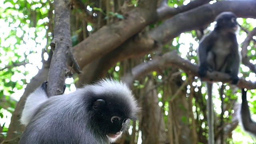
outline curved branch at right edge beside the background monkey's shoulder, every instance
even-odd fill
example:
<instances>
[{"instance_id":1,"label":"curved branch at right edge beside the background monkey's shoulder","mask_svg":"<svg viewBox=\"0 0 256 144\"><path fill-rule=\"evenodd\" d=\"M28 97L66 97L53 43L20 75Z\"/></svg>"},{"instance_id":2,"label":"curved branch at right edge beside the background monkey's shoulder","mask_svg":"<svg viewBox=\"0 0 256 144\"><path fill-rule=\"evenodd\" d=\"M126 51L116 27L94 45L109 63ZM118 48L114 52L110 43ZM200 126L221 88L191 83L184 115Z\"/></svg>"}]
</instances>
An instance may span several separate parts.
<instances>
[{"instance_id":1,"label":"curved branch at right edge beside the background monkey's shoulder","mask_svg":"<svg viewBox=\"0 0 256 144\"><path fill-rule=\"evenodd\" d=\"M247 52L248 52L247 46L249 46L250 41L252 40L252 36L255 36L255 35L256 35L256 28L254 28L254 29L252 30L252 32L250 32L250 33L248 34L248 36L246 37L246 39L245 39L244 42L242 43L242 51L241 51L241 53L242 53L242 63L243 63L244 65L248 66L248 67L250 68L250 70L251 70L252 72L254 72L254 73L256 73L256 67L255 67L254 64L252 64L252 63L250 62L250 59L249 59L248 56L247 56Z\"/></svg>"}]
</instances>

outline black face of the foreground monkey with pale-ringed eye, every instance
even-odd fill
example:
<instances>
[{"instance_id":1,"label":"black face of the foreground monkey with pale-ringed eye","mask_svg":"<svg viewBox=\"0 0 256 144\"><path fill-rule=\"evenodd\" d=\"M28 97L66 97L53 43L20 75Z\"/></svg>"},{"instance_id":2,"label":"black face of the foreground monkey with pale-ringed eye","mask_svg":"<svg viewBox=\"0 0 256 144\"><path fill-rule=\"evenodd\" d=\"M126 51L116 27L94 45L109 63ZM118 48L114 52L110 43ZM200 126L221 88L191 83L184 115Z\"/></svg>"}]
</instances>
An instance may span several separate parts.
<instances>
[{"instance_id":1,"label":"black face of the foreground monkey with pale-ringed eye","mask_svg":"<svg viewBox=\"0 0 256 144\"><path fill-rule=\"evenodd\" d=\"M93 103L92 108L95 112L94 120L100 128L100 133L107 136L112 142L129 128L130 119L136 119L132 106L124 99L118 100L113 99L112 96L102 96L102 99Z\"/></svg>"}]
</instances>

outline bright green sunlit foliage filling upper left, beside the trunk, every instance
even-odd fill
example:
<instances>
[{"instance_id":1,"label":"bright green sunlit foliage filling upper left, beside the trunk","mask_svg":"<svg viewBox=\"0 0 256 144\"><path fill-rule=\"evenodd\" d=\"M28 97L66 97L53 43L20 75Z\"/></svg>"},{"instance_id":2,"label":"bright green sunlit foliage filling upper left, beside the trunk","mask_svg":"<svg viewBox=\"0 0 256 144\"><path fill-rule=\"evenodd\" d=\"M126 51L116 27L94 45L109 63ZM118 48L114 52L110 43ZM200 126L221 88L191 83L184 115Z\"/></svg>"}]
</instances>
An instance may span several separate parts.
<instances>
[{"instance_id":1,"label":"bright green sunlit foliage filling upper left, beside the trunk","mask_svg":"<svg viewBox=\"0 0 256 144\"><path fill-rule=\"evenodd\" d=\"M7 131L16 102L42 67L50 5L46 0L4 0L0 7L0 124ZM3 119L4 118L4 119ZM5 120L7 120L5 122Z\"/></svg>"}]
</instances>

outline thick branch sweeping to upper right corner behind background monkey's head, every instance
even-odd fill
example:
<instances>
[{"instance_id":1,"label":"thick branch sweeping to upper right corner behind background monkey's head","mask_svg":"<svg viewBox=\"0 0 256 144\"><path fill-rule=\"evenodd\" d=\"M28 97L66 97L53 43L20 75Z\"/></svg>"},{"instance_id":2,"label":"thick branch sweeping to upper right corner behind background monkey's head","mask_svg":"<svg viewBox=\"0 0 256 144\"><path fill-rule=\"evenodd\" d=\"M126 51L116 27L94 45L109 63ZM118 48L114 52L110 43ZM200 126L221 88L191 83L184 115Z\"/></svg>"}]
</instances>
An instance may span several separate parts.
<instances>
[{"instance_id":1,"label":"thick branch sweeping to upper right corner behind background monkey's head","mask_svg":"<svg viewBox=\"0 0 256 144\"><path fill-rule=\"evenodd\" d=\"M240 13L240 17L256 17L254 15L256 13L256 1L253 0L221 1L216 4L205 4L188 12L177 14L173 18L166 20L160 26L150 30L148 33L138 34L130 38L87 68L95 70L94 72L90 72L95 78L104 77L109 68L114 66L116 62L126 58L148 54L148 52L156 50L162 44L167 44L182 32L201 28L213 22L216 15L223 12L223 10L231 10L232 7L241 7L235 12L236 14ZM204 18L204 16L206 18ZM96 63L99 65L95 65ZM89 69L87 68L83 71L88 71ZM86 75L85 77L88 78L90 76ZM80 77L78 83L88 82L87 79L84 78Z\"/></svg>"}]
</instances>

